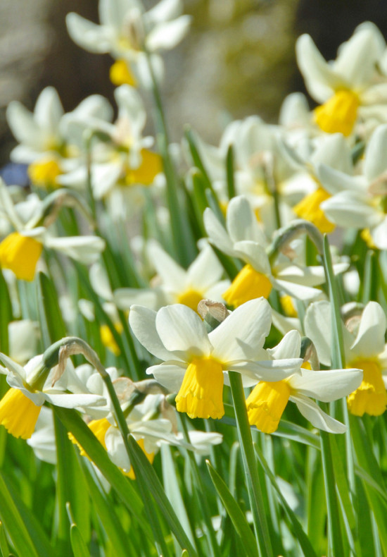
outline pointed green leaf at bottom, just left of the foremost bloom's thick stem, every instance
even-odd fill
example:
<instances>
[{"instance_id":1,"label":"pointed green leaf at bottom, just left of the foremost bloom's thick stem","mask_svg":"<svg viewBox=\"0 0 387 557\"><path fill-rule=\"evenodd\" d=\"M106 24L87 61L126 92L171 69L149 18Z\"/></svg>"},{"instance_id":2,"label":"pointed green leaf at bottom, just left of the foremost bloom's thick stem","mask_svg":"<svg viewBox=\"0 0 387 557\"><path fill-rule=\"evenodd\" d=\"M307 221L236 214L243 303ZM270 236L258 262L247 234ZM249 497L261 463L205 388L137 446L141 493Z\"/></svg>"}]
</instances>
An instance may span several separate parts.
<instances>
[{"instance_id":1,"label":"pointed green leaf at bottom, just left of the foremost bloom's thick stem","mask_svg":"<svg viewBox=\"0 0 387 557\"><path fill-rule=\"evenodd\" d=\"M227 513L231 518L231 522L233 523L236 532L238 532L239 537L243 541L243 546L245 546L246 548L246 555L249 557L258 557L257 542L255 541L253 532L251 532L250 526L248 525L246 515L244 515L240 506L238 505L238 503L236 503L234 497L231 495L227 484L224 483L223 479L217 473L215 468L212 467L209 460L206 460L206 464L208 467L208 472L210 472L212 483L214 484L217 493L222 499L224 508L227 510Z\"/></svg>"}]
</instances>

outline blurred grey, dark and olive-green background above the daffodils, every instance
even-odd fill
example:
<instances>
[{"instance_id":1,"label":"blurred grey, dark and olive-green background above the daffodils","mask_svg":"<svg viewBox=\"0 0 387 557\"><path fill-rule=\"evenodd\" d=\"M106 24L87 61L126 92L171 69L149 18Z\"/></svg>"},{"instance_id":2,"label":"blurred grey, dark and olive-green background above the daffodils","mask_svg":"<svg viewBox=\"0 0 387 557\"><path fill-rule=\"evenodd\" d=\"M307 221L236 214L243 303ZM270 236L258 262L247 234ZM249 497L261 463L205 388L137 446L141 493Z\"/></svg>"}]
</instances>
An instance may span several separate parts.
<instances>
[{"instance_id":1,"label":"blurred grey, dark and olive-green background above the daffodils","mask_svg":"<svg viewBox=\"0 0 387 557\"><path fill-rule=\"evenodd\" d=\"M146 8L156 1L146 0ZM234 118L260 114L276 121L282 100L304 91L296 66L296 37L310 33L326 59L356 25L371 20L387 37L385 0L185 0L191 32L165 54L163 95L172 139L185 123L216 143ZM18 99L32 109L47 85L58 90L66 111L87 95L113 99L110 56L73 44L65 14L98 21L97 0L0 1L0 166L13 138L5 109ZM149 128L151 131L151 128Z\"/></svg>"}]
</instances>

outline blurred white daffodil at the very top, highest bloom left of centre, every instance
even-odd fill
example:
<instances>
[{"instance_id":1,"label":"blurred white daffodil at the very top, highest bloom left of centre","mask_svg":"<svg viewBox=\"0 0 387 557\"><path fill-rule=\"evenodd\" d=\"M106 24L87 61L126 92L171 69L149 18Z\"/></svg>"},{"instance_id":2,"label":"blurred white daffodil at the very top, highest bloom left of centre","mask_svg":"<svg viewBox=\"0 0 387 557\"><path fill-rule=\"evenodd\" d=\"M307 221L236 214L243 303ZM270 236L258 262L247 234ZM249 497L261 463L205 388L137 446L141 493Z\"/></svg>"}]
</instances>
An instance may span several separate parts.
<instances>
[{"instance_id":1,"label":"blurred white daffodil at the very top, highest bloom left of centre","mask_svg":"<svg viewBox=\"0 0 387 557\"><path fill-rule=\"evenodd\" d=\"M137 0L100 0L101 25L69 13L66 17L70 37L80 47L99 54L109 53L116 59L110 78L115 85L150 80L145 52L151 55L156 73L163 70L163 61L156 51L174 48L186 35L191 18L182 16L181 0L162 0L151 10ZM134 73L134 75L133 75Z\"/></svg>"}]
</instances>

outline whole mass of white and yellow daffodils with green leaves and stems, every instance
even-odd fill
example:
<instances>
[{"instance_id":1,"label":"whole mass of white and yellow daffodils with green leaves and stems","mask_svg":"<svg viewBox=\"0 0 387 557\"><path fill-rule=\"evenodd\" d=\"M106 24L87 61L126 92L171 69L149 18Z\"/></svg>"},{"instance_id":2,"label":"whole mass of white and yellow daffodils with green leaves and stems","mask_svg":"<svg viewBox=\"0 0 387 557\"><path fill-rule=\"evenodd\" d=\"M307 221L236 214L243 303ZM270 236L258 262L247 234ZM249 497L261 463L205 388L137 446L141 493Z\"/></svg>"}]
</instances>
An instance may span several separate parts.
<instances>
[{"instance_id":1,"label":"whole mass of white and yellow daffodils with green leaves and stems","mask_svg":"<svg viewBox=\"0 0 387 557\"><path fill-rule=\"evenodd\" d=\"M326 62L303 35L315 109L170 145L182 1L99 17L68 32L115 60L116 106L6 113L30 185L0 181L0 556L387 556L385 40ZM57 485L36 535L8 434Z\"/></svg>"}]
</instances>

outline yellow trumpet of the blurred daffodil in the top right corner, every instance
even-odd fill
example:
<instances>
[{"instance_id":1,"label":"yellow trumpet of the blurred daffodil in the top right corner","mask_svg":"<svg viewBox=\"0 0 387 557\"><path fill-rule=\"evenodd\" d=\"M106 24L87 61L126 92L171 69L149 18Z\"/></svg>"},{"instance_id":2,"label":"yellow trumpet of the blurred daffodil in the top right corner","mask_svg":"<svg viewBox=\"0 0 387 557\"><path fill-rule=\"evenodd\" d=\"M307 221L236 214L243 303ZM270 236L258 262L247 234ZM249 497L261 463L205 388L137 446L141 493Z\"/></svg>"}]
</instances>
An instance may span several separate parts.
<instances>
[{"instance_id":1,"label":"yellow trumpet of the blurred daffodil in the top right corner","mask_svg":"<svg viewBox=\"0 0 387 557\"><path fill-rule=\"evenodd\" d=\"M315 109L315 123L326 133L350 135L358 107L359 97L353 91L336 91L333 97Z\"/></svg>"}]
</instances>

